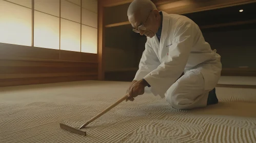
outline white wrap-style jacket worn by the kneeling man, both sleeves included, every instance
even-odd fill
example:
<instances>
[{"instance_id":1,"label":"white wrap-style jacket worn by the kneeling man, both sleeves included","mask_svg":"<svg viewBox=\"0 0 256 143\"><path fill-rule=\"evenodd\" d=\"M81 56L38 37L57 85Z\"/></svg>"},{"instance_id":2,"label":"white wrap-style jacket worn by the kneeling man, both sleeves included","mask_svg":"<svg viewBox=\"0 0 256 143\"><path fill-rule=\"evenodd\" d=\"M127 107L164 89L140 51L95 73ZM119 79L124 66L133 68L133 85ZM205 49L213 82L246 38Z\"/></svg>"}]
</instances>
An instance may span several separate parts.
<instances>
[{"instance_id":1,"label":"white wrap-style jacket worn by the kneeling man, both sleeves included","mask_svg":"<svg viewBox=\"0 0 256 143\"><path fill-rule=\"evenodd\" d=\"M139 70L134 80L144 78L153 94L165 97L167 89L190 69L199 69L205 90L218 83L222 64L220 55L211 50L198 25L191 19L163 12L161 40L147 37Z\"/></svg>"}]
</instances>

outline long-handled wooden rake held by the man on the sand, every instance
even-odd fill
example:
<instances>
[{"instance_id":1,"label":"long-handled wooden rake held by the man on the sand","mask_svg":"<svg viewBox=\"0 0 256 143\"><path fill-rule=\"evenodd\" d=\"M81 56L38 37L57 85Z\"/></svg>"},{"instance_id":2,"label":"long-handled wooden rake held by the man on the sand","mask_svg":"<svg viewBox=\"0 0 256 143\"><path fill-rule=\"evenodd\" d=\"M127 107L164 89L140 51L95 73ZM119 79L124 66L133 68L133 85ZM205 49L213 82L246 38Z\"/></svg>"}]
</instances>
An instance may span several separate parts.
<instances>
[{"instance_id":1,"label":"long-handled wooden rake held by the man on the sand","mask_svg":"<svg viewBox=\"0 0 256 143\"><path fill-rule=\"evenodd\" d=\"M104 111L102 111L101 113L97 114L96 116L94 116L93 118L91 118L91 120L89 120L88 122L86 122L84 125L82 125L80 128L73 128L70 127L68 125L62 124L60 123L60 127L64 130L67 130L69 132L72 133L76 133L76 134L81 134L86 136L86 131L82 131L81 129L85 128L88 124L90 124L91 122L93 122L94 120L96 120L97 118L99 118L100 116L102 116L103 114L105 114L106 112L108 112L109 110L111 110L112 108L114 108L116 105L120 104L121 102L123 102L124 100L126 100L128 98L128 96L124 96L123 98L121 98L120 100L116 101L114 104L112 104L111 106L109 106L107 109L105 109Z\"/></svg>"}]
</instances>

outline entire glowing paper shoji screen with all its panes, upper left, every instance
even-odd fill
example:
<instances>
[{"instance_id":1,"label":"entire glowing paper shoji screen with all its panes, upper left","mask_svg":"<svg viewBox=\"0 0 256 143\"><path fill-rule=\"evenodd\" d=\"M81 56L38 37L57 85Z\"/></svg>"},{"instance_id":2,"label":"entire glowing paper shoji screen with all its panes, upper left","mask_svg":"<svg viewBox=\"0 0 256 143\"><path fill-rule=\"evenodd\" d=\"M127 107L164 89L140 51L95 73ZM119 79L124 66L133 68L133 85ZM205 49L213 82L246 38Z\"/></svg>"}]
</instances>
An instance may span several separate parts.
<instances>
[{"instance_id":1,"label":"entire glowing paper shoji screen with all its panes, upper left","mask_svg":"<svg viewBox=\"0 0 256 143\"><path fill-rule=\"evenodd\" d=\"M97 53L97 0L0 0L0 42Z\"/></svg>"}]
</instances>

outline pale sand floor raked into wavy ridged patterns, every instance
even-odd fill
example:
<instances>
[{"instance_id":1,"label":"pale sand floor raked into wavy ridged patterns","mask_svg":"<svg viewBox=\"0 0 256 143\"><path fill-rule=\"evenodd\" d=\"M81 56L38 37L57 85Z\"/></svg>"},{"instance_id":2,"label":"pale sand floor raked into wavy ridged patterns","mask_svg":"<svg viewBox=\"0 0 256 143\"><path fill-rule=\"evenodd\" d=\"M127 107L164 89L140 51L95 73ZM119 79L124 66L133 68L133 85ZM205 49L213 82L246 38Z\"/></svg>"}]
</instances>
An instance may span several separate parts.
<instances>
[{"instance_id":1,"label":"pale sand floor raked into wavy ridged patterns","mask_svg":"<svg viewBox=\"0 0 256 143\"><path fill-rule=\"evenodd\" d=\"M144 94L67 132L124 96L127 82L84 81L0 88L0 142L256 142L256 89L218 87L220 103L176 110Z\"/></svg>"}]
</instances>

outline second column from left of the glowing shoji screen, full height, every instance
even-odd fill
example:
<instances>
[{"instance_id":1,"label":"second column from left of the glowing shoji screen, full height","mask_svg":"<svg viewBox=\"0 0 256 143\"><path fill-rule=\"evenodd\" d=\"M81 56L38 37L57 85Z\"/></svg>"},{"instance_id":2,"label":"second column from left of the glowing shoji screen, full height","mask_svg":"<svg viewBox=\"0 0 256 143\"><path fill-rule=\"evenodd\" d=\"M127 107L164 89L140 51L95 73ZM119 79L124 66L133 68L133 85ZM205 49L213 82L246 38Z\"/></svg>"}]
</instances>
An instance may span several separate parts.
<instances>
[{"instance_id":1,"label":"second column from left of the glowing shoji screen, full height","mask_svg":"<svg viewBox=\"0 0 256 143\"><path fill-rule=\"evenodd\" d=\"M34 0L34 46L60 49L60 0Z\"/></svg>"}]
</instances>

